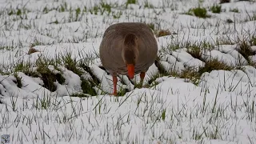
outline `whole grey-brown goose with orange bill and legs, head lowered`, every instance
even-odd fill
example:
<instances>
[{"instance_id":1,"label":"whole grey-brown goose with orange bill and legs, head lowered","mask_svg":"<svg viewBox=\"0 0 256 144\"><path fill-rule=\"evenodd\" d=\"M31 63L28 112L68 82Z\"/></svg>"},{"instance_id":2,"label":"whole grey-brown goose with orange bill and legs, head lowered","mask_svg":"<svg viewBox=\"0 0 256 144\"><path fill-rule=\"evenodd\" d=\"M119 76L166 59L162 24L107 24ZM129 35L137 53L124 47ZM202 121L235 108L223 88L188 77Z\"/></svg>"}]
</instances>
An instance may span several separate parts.
<instances>
[{"instance_id":1,"label":"whole grey-brown goose with orange bill and legs, head lowered","mask_svg":"<svg viewBox=\"0 0 256 144\"><path fill-rule=\"evenodd\" d=\"M139 22L122 22L109 26L100 45L102 66L113 76L114 95L117 95L117 74L140 74L141 82L154 63L158 45L150 28Z\"/></svg>"}]
</instances>

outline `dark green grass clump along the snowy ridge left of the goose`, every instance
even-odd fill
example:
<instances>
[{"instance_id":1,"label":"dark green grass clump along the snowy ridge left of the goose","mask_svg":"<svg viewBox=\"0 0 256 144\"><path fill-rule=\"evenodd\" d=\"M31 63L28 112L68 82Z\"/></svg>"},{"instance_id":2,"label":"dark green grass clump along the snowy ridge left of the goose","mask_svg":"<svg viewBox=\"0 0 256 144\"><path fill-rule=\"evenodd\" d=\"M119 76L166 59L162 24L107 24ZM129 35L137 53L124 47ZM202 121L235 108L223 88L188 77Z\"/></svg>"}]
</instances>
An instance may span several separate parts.
<instances>
[{"instance_id":1,"label":"dark green grass clump along the snowy ridge left of the goose","mask_svg":"<svg viewBox=\"0 0 256 144\"><path fill-rule=\"evenodd\" d=\"M58 69L58 66L63 65L66 67L67 70L74 72L74 74L78 74L81 77L81 87L84 94L96 95L96 91L94 90L94 86L98 85L98 79L95 78L94 74L90 72L89 67L84 67L84 69L80 66L84 66L82 63L79 64L75 59L71 58L71 53L67 52L65 55L61 55L59 58L56 59L47 59L47 58L39 58L34 65L32 63L20 62L17 66L14 67L14 72L17 73L18 71L23 72L24 74L35 77L41 78L42 82L44 83L44 87L50 91L55 91L57 88L54 82L58 82L63 84L65 82L65 78L62 76L62 70ZM36 70L31 70L30 67L34 66ZM56 70L59 72L54 74L52 70L49 69L49 66L54 66ZM93 75L92 80L88 80L83 77L83 74L86 74L87 71ZM17 85L21 85L21 78L18 78L18 75L14 75L17 79Z\"/></svg>"}]
</instances>

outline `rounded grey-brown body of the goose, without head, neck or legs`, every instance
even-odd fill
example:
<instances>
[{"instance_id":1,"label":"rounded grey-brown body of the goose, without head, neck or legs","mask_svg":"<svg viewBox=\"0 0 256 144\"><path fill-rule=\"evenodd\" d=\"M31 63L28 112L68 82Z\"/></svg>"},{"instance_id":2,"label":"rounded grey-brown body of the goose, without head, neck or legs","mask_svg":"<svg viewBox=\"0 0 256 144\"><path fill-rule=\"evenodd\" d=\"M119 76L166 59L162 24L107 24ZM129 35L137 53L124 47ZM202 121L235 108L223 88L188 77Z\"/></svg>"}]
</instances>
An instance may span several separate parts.
<instances>
[{"instance_id":1,"label":"rounded grey-brown body of the goose, without head, neck or legs","mask_svg":"<svg viewBox=\"0 0 256 144\"><path fill-rule=\"evenodd\" d=\"M138 37L138 61L134 73L146 72L157 58L158 45L149 26L140 22L122 22L109 26L103 34L100 45L102 66L112 75L127 74L122 59L122 47L126 34Z\"/></svg>"}]
</instances>

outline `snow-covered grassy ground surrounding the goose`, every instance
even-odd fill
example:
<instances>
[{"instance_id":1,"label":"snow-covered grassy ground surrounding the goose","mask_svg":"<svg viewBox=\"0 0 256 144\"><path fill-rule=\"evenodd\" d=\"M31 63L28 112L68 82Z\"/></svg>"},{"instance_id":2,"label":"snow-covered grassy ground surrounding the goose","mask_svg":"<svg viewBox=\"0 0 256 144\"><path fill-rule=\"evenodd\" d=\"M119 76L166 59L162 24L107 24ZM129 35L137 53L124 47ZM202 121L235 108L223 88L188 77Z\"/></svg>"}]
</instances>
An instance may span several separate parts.
<instances>
[{"instance_id":1,"label":"snow-covered grassy ground surrounding the goose","mask_svg":"<svg viewBox=\"0 0 256 144\"><path fill-rule=\"evenodd\" d=\"M250 66L256 55L249 62L238 52L255 34L256 2L233 0L222 4L220 14L210 11L218 0L126 2L0 0L0 136L10 134L10 143L256 143L256 69ZM186 14L198 5L210 18ZM113 97L107 94L113 83L100 68L98 51L104 30L116 22L152 23L155 30L173 32L157 38L159 63L167 73L198 70L212 58L239 69L205 72L196 83L167 75L140 89L120 75L118 90L129 92ZM194 58L186 43L202 42L212 47ZM31 47L37 52L29 54ZM97 96L70 97L82 93L81 77L53 62L46 67L65 79L54 82L54 91L42 78L17 71L20 63L42 70L34 64L38 59L65 54L78 62L90 59L86 66L100 81ZM158 72L152 65L144 84ZM92 78L86 72L83 77Z\"/></svg>"}]
</instances>

